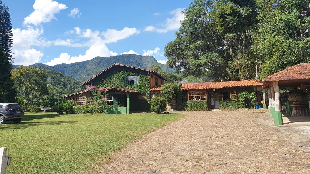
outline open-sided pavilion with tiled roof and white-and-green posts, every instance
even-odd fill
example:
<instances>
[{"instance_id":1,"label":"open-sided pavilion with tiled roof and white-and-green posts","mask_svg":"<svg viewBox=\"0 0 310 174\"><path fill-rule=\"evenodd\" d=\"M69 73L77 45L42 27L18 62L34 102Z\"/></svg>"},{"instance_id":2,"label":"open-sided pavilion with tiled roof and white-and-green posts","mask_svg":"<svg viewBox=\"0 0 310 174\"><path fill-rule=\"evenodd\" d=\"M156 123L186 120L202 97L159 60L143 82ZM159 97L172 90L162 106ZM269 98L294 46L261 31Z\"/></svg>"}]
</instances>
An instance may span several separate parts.
<instances>
[{"instance_id":1,"label":"open-sided pavilion with tiled roof and white-and-green posts","mask_svg":"<svg viewBox=\"0 0 310 174\"><path fill-rule=\"evenodd\" d=\"M274 125L282 125L282 116L288 116L289 112L291 116L305 116L310 114L308 103L310 63L294 65L283 71L272 74L262 81L263 88L268 89L268 105L270 108L270 116L274 118ZM295 98L289 97L289 101L283 106L286 107L286 114L282 114L280 88L294 88L290 91L290 94L296 94Z\"/></svg>"}]
</instances>

